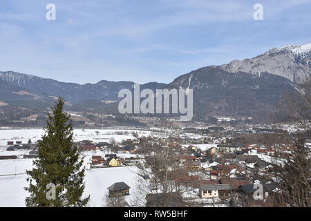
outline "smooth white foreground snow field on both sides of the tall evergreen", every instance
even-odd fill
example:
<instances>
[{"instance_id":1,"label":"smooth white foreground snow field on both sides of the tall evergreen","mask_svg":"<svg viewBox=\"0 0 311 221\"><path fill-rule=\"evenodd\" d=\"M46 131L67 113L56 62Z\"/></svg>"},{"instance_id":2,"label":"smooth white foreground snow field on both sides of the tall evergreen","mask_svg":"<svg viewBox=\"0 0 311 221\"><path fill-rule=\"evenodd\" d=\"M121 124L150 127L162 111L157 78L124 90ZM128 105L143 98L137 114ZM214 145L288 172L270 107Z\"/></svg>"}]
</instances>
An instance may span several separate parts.
<instances>
[{"instance_id":1,"label":"smooth white foreground snow field on both sides of the tall evergreen","mask_svg":"<svg viewBox=\"0 0 311 221\"><path fill-rule=\"evenodd\" d=\"M0 175L25 173L32 169L32 159L0 160ZM137 197L135 193L135 182L138 178L136 166L111 167L103 169L92 169L86 171L84 181L86 183L85 195L90 195L89 206L104 206L104 196L107 187L115 182L125 182L131 186L130 194L126 197L131 202ZM28 192L24 187L28 186L26 174L0 176L0 207L3 206L25 206L25 198ZM144 197L144 196L141 196Z\"/></svg>"}]
</instances>

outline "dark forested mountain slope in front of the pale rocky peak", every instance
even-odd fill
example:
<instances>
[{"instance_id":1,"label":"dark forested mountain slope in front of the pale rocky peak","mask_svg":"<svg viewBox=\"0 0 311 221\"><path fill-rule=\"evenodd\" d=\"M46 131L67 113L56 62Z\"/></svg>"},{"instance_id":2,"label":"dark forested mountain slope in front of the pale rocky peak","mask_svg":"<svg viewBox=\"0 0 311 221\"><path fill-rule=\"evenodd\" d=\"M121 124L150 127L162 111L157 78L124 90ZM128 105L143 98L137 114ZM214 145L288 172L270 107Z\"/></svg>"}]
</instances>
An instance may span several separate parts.
<instances>
[{"instance_id":1,"label":"dark forested mountain slope in front of the pale rocky peak","mask_svg":"<svg viewBox=\"0 0 311 221\"><path fill-rule=\"evenodd\" d=\"M194 89L194 115L267 117L279 111L281 97L296 93L292 81L261 73L229 73L219 67L194 70L175 79L169 88Z\"/></svg>"}]
</instances>

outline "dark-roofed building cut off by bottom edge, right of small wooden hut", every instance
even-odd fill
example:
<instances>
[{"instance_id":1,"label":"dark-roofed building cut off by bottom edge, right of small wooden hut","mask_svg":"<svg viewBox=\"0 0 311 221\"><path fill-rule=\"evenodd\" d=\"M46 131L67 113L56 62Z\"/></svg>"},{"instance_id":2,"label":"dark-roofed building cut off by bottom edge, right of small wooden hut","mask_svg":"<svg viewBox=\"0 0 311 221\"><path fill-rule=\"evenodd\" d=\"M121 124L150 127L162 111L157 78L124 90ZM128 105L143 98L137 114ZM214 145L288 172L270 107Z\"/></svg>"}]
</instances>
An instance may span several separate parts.
<instances>
[{"instance_id":1,"label":"dark-roofed building cut off by bottom edge, right of small wooden hut","mask_svg":"<svg viewBox=\"0 0 311 221\"><path fill-rule=\"evenodd\" d=\"M182 207L185 203L180 193L149 193L146 195L146 207Z\"/></svg>"}]
</instances>

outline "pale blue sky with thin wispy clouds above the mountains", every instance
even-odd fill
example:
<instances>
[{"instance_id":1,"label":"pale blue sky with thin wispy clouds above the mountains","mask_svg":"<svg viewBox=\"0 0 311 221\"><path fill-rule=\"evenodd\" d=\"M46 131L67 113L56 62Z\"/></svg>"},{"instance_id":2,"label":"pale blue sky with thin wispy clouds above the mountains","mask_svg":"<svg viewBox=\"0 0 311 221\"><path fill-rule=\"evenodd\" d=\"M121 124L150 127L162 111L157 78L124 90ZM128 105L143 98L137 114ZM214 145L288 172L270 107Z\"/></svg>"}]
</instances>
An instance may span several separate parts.
<instances>
[{"instance_id":1,"label":"pale blue sky with thin wispy clouds above the mountains","mask_svg":"<svg viewBox=\"0 0 311 221\"><path fill-rule=\"evenodd\" d=\"M56 21L46 20L46 5ZM263 21L253 19L263 4ZM8 0L0 70L79 84L169 83L288 44L311 43L311 0Z\"/></svg>"}]
</instances>

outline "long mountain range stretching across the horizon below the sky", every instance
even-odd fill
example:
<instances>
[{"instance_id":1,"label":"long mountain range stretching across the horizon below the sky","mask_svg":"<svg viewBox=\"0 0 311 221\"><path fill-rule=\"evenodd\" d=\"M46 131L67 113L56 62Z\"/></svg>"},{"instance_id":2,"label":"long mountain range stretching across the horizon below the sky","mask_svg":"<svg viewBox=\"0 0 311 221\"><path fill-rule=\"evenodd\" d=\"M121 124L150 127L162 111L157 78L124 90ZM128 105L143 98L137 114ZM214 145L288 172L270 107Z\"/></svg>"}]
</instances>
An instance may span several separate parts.
<instances>
[{"instance_id":1,"label":"long mountain range stretching across the horizon below the sky","mask_svg":"<svg viewBox=\"0 0 311 221\"><path fill-rule=\"evenodd\" d=\"M213 115L265 119L277 115L282 97L298 93L299 84L309 75L311 44L306 44L272 48L252 59L199 68L169 84L150 82L140 88L194 89L195 119ZM105 80L75 84L14 71L0 72L0 109L46 110L62 96L71 110L117 112L119 90L133 89L133 84L132 81Z\"/></svg>"}]
</instances>

